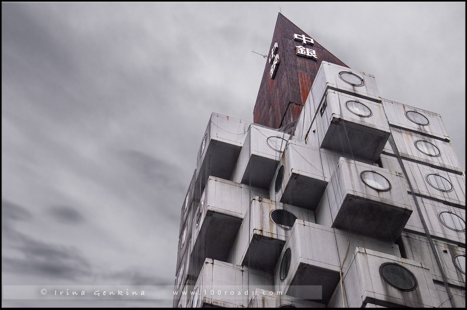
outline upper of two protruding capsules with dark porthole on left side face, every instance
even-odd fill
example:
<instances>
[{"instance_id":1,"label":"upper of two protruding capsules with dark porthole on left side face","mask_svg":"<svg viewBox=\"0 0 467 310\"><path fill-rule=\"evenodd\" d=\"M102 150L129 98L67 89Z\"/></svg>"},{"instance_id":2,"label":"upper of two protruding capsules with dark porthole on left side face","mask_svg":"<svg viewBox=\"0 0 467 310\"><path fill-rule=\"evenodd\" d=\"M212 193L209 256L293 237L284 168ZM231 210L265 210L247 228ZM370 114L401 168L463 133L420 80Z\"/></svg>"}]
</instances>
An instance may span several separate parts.
<instances>
[{"instance_id":1,"label":"upper of two protruding capsules with dark porthole on left side face","mask_svg":"<svg viewBox=\"0 0 467 310\"><path fill-rule=\"evenodd\" d=\"M319 149L289 141L269 187L269 198L314 210L325 191L327 181Z\"/></svg>"}]
</instances>

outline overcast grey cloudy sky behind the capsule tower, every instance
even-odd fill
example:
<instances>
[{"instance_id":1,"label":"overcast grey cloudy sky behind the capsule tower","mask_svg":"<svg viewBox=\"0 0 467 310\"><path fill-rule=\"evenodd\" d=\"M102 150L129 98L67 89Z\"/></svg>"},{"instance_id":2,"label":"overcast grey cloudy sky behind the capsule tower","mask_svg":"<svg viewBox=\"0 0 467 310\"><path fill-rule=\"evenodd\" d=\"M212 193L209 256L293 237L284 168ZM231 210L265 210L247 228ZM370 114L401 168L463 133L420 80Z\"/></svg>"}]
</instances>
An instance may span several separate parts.
<instances>
[{"instance_id":1,"label":"overcast grey cloudy sky behind the capsule tower","mask_svg":"<svg viewBox=\"0 0 467 310\"><path fill-rule=\"evenodd\" d=\"M2 3L2 284L174 283L205 127L253 121L279 6L466 169L465 3Z\"/></svg>"}]
</instances>

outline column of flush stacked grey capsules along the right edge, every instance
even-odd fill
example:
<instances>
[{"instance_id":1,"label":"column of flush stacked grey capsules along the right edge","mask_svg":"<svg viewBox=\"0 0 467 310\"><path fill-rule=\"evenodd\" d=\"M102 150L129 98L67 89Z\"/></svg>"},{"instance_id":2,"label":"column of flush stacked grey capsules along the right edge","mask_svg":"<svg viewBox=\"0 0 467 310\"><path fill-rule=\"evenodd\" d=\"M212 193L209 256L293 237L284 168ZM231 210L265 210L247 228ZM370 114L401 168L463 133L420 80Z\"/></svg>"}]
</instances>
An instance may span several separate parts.
<instances>
[{"instance_id":1,"label":"column of flush stacked grey capsules along the right edge","mask_svg":"<svg viewBox=\"0 0 467 310\"><path fill-rule=\"evenodd\" d=\"M402 162L414 209L398 241L401 254L430 269L437 292L433 305L450 307L441 270L425 235L425 221L454 302L457 307L465 306L465 297L460 298L465 289L459 290L465 288L465 174L439 114L385 99L383 105L400 160L388 143L380 164L399 170Z\"/></svg>"}]
</instances>

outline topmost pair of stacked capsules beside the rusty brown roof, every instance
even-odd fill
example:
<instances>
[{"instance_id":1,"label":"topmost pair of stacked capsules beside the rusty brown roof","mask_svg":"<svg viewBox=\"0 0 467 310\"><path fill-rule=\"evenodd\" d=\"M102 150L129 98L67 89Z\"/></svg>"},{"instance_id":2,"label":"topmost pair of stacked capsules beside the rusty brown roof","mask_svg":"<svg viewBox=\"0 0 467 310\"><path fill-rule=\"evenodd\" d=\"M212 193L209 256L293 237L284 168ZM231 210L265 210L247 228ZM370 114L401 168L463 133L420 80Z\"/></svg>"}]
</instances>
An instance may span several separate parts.
<instances>
[{"instance_id":1,"label":"topmost pair of stacked capsules beside the rusty brown roof","mask_svg":"<svg viewBox=\"0 0 467 310\"><path fill-rule=\"evenodd\" d=\"M376 160L390 130L375 77L322 62L311 87L314 119L305 141Z\"/></svg>"}]
</instances>

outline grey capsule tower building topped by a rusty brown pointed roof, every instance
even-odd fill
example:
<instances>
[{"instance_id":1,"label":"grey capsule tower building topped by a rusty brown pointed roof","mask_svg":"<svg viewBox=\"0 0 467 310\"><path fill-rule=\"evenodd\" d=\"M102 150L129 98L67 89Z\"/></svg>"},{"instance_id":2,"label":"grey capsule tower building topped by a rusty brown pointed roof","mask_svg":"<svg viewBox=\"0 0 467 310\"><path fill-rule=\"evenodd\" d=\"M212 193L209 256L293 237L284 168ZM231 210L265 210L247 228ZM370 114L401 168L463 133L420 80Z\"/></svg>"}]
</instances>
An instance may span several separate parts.
<instances>
[{"instance_id":1,"label":"grey capsule tower building topped by a rusty brown pointed roof","mask_svg":"<svg viewBox=\"0 0 467 310\"><path fill-rule=\"evenodd\" d=\"M439 114L279 13L253 115L200 133L174 307L465 307L466 177Z\"/></svg>"}]
</instances>

